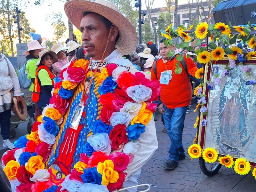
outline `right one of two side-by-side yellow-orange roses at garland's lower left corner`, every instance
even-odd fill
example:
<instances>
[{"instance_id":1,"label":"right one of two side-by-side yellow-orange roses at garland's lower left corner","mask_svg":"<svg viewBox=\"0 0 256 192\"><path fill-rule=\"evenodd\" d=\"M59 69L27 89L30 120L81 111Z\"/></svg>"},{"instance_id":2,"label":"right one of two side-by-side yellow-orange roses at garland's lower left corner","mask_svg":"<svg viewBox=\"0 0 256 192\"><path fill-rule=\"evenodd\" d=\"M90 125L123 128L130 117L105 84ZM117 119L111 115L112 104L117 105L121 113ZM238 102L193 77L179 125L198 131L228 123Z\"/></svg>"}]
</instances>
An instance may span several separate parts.
<instances>
[{"instance_id":1,"label":"right one of two side-by-side yellow-orange roses at garland's lower left corner","mask_svg":"<svg viewBox=\"0 0 256 192\"><path fill-rule=\"evenodd\" d=\"M44 169L43 157L40 155L30 157L25 164L25 168L33 175L38 169Z\"/></svg>"}]
</instances>

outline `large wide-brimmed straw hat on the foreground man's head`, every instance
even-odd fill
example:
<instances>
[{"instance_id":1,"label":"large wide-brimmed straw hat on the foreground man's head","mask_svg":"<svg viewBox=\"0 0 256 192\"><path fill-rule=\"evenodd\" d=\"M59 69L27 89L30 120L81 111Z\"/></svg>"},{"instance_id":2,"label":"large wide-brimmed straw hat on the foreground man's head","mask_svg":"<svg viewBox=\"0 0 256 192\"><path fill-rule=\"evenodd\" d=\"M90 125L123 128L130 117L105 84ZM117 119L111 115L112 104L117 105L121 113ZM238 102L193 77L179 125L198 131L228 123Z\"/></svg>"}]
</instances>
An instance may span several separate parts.
<instances>
[{"instance_id":1,"label":"large wide-brimmed straw hat on the foreground man's head","mask_svg":"<svg viewBox=\"0 0 256 192\"><path fill-rule=\"evenodd\" d=\"M84 0L67 1L64 10L68 19L80 28L80 22L84 12L95 12L118 28L119 38L116 42L116 49L121 55L129 55L136 49L138 37L135 29L129 20L116 8L115 5L104 0L96 0L94 2ZM105 45L102 45L105 46Z\"/></svg>"}]
</instances>

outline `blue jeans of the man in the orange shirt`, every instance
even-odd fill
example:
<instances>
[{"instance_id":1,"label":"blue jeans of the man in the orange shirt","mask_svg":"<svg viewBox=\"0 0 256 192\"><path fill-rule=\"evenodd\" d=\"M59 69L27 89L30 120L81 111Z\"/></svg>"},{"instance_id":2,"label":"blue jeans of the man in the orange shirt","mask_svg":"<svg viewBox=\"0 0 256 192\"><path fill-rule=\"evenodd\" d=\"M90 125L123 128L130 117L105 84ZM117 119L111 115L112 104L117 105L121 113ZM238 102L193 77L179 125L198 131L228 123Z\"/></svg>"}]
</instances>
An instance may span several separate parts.
<instances>
[{"instance_id":1,"label":"blue jeans of the man in the orange shirt","mask_svg":"<svg viewBox=\"0 0 256 192\"><path fill-rule=\"evenodd\" d=\"M164 105L164 109L166 111L163 115L164 125L166 132L171 139L169 159L178 161L179 156L185 154L185 150L182 145L182 133L187 107L169 109Z\"/></svg>"}]
</instances>

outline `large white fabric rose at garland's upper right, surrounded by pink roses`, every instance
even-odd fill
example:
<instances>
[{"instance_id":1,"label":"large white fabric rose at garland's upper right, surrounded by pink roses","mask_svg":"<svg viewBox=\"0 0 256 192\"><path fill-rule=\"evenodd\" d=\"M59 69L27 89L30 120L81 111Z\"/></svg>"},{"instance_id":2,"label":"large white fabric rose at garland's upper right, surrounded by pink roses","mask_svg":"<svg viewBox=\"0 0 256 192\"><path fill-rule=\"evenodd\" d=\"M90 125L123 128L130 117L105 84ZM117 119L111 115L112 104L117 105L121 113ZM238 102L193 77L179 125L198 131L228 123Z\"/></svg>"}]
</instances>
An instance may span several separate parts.
<instances>
[{"instance_id":1,"label":"large white fabric rose at garland's upper right, surrounded by pink roses","mask_svg":"<svg viewBox=\"0 0 256 192\"><path fill-rule=\"evenodd\" d=\"M152 89L141 84L128 87L126 92L129 97L138 103L149 100L152 95Z\"/></svg>"}]
</instances>

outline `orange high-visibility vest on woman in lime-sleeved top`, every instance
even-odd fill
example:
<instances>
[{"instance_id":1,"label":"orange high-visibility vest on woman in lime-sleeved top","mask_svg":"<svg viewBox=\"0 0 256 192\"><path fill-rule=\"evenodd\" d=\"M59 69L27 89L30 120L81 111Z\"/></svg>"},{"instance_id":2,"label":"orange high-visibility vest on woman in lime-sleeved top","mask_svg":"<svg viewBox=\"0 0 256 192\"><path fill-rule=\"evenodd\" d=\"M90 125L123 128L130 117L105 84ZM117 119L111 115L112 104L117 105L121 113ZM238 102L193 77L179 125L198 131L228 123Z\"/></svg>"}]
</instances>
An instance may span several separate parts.
<instances>
[{"instance_id":1,"label":"orange high-visibility vest on woman in lime-sleeved top","mask_svg":"<svg viewBox=\"0 0 256 192\"><path fill-rule=\"evenodd\" d=\"M40 84L39 84L39 79L38 79L38 73L41 69L45 69L51 80L52 80L52 84L54 85L54 75L52 74L52 72L50 71L50 69L48 67L46 67L45 65L40 65L37 69L36 69L36 78L35 78L35 86L34 86L34 90L32 92L32 101L37 102L39 100L39 96L40 96Z\"/></svg>"}]
</instances>

